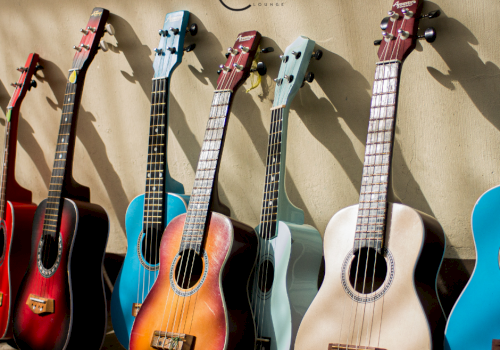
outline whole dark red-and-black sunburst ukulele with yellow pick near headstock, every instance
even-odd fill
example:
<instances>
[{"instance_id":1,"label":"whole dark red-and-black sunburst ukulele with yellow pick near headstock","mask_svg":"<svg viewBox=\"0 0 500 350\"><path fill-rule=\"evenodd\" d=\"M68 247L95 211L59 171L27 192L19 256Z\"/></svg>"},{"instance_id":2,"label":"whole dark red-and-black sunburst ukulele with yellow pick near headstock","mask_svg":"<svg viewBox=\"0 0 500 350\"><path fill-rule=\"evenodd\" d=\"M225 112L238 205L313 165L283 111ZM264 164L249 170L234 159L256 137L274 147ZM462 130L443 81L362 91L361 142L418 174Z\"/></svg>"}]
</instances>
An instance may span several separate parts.
<instances>
[{"instance_id":1,"label":"whole dark red-and-black sunburst ukulele with yellow pick near headstock","mask_svg":"<svg viewBox=\"0 0 500 350\"><path fill-rule=\"evenodd\" d=\"M99 349L106 331L102 262L109 222L72 174L78 109L87 69L109 11L94 8L69 71L48 198L35 212L29 267L14 311L20 349ZM102 48L105 43L101 42Z\"/></svg>"}]
</instances>

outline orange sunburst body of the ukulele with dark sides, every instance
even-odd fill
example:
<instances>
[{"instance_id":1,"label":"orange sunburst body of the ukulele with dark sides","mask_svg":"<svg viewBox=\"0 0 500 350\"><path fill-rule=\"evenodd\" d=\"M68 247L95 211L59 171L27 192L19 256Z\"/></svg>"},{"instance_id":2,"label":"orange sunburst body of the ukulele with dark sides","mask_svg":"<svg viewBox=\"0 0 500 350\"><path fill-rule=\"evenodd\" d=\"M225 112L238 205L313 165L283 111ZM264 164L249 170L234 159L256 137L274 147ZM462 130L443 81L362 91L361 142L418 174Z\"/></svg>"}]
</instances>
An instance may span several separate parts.
<instances>
[{"instance_id":1,"label":"orange sunburst body of the ukulele with dark sides","mask_svg":"<svg viewBox=\"0 0 500 350\"><path fill-rule=\"evenodd\" d=\"M202 277L187 290L191 297L182 296L186 290L178 289L171 269L178 261L185 218L176 217L165 230L159 276L135 319L130 350L153 349L155 330L194 336L192 350L254 350L255 329L247 292L257 254L253 229L212 212L204 241ZM185 305L183 312L180 305Z\"/></svg>"}]
</instances>

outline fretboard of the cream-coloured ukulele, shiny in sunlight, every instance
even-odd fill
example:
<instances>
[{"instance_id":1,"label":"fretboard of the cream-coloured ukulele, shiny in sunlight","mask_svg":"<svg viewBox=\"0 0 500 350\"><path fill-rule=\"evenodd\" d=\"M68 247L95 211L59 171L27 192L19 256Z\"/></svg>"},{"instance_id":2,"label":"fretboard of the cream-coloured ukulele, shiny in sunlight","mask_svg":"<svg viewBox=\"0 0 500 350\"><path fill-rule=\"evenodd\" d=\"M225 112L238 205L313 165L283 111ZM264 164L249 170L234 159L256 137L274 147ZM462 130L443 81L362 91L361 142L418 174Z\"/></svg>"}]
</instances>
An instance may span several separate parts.
<instances>
[{"instance_id":1,"label":"fretboard of the cream-coloured ukulele, shiny in sunlight","mask_svg":"<svg viewBox=\"0 0 500 350\"><path fill-rule=\"evenodd\" d=\"M379 62L375 70L354 242L355 251L362 247L372 247L381 252L383 247L399 67L399 62Z\"/></svg>"}]
</instances>

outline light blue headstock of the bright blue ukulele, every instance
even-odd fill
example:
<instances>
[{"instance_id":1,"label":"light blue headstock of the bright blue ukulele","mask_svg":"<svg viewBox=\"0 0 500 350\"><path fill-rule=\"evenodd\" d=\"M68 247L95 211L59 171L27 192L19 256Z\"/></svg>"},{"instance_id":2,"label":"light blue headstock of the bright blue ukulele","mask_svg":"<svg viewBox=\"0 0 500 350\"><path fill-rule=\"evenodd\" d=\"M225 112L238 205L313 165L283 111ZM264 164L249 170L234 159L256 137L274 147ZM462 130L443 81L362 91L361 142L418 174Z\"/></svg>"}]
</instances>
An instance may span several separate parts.
<instances>
[{"instance_id":1,"label":"light blue headstock of the bright blue ukulele","mask_svg":"<svg viewBox=\"0 0 500 350\"><path fill-rule=\"evenodd\" d=\"M195 36L198 33L198 26L192 24L187 28L189 21L189 11L177 11L167 13L163 28L158 31L160 34L160 44L155 51L153 69L155 78L168 78L173 70L182 62L184 51L193 51L196 44L184 47L186 33Z\"/></svg>"}]
</instances>

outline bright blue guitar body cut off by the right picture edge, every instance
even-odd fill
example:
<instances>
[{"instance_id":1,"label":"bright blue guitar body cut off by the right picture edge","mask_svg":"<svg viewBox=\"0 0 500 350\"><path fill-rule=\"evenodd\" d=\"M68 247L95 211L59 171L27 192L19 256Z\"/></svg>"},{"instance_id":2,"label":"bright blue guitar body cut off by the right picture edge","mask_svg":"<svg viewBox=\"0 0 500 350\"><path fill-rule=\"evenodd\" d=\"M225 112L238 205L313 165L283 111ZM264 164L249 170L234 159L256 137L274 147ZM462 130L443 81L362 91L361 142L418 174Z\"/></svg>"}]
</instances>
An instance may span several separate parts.
<instances>
[{"instance_id":1,"label":"bright blue guitar body cut off by the right picture edge","mask_svg":"<svg viewBox=\"0 0 500 350\"><path fill-rule=\"evenodd\" d=\"M476 266L448 318L445 349L492 349L500 343L500 187L484 193L472 211Z\"/></svg>"}]
</instances>

